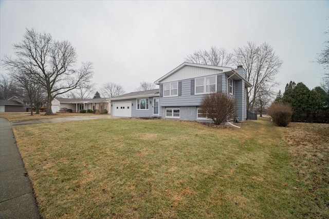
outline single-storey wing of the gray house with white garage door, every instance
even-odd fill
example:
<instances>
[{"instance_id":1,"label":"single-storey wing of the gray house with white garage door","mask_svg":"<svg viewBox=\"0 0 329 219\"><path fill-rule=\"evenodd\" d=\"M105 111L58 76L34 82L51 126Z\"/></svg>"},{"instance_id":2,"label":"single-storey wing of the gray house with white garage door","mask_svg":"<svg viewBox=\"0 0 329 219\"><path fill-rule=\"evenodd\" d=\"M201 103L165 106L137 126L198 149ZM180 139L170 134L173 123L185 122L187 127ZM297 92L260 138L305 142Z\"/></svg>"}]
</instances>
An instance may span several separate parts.
<instances>
[{"instance_id":1,"label":"single-storey wing of the gray house with white garage door","mask_svg":"<svg viewBox=\"0 0 329 219\"><path fill-rule=\"evenodd\" d=\"M159 89L122 94L111 100L111 115L142 117L159 116Z\"/></svg>"}]
</instances>

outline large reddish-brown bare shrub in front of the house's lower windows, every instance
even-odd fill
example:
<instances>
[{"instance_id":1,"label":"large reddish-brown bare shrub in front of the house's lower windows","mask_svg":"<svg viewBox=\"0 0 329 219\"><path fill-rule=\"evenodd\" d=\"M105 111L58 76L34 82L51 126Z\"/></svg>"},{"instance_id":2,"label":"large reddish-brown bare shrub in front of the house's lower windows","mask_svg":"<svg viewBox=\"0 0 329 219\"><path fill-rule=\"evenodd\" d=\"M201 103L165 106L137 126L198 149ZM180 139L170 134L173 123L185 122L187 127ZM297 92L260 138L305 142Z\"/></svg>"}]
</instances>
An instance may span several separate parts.
<instances>
[{"instance_id":1,"label":"large reddish-brown bare shrub in front of the house's lower windows","mask_svg":"<svg viewBox=\"0 0 329 219\"><path fill-rule=\"evenodd\" d=\"M222 92L205 94L200 104L201 110L215 125L220 125L235 115L235 99Z\"/></svg>"}]
</instances>

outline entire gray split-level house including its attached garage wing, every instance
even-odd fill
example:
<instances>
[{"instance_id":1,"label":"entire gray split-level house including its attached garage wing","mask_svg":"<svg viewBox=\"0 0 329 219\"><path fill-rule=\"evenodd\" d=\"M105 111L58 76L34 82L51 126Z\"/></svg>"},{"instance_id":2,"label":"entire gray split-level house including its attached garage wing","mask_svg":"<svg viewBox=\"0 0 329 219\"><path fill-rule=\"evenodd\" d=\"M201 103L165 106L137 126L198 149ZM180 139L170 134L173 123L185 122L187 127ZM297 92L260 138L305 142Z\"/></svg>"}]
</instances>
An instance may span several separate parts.
<instances>
[{"instance_id":1,"label":"entire gray split-level house including its attached garage wing","mask_svg":"<svg viewBox=\"0 0 329 219\"><path fill-rule=\"evenodd\" d=\"M199 110L204 94L226 92L236 100L239 120L246 120L247 88L252 85L247 81L242 66L233 69L185 62L157 79L155 84L159 85L159 90L132 92L111 98L112 115L158 115L177 120L207 120Z\"/></svg>"}]
</instances>

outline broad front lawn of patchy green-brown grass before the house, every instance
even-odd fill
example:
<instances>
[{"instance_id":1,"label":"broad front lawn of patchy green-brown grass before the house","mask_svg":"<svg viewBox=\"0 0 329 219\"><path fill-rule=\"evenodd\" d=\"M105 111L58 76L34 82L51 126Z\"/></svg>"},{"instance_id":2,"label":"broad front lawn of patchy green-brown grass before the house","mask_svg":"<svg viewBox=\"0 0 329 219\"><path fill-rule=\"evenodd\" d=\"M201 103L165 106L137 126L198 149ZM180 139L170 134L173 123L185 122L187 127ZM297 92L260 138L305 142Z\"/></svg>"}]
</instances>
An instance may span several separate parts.
<instances>
[{"instance_id":1,"label":"broad front lawn of patchy green-brown grass before the house","mask_svg":"<svg viewBox=\"0 0 329 219\"><path fill-rule=\"evenodd\" d=\"M327 190L314 202L298 177L288 128L241 127L95 120L14 132L44 218L328 217Z\"/></svg>"}]
</instances>

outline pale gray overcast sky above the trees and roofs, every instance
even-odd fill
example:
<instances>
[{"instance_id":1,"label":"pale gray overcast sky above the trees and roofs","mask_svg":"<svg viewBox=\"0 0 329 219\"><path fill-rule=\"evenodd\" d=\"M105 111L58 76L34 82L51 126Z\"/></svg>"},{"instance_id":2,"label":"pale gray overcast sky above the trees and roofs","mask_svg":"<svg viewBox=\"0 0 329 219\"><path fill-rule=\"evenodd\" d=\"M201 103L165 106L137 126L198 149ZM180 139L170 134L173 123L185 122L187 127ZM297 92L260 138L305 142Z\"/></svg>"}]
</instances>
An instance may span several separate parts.
<instances>
[{"instance_id":1,"label":"pale gray overcast sky above the trees and roofs","mask_svg":"<svg viewBox=\"0 0 329 219\"><path fill-rule=\"evenodd\" d=\"M98 87L115 82L132 92L195 50L267 42L283 59L280 89L290 80L313 89L323 69L311 61L329 38L328 16L329 1L1 1L0 53L13 54L34 28L93 62Z\"/></svg>"}]
</instances>

